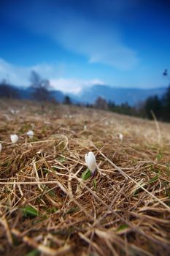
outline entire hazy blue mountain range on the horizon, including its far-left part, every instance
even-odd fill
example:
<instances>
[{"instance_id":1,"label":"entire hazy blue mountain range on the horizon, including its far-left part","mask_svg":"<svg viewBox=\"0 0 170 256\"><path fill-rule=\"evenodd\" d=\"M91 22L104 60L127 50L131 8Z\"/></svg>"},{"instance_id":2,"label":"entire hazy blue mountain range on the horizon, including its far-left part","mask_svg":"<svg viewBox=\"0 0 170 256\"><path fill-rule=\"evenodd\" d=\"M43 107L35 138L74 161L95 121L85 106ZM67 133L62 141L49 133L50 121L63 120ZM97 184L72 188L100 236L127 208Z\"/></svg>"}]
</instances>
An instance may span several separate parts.
<instances>
[{"instance_id":1,"label":"entire hazy blue mountain range on the horizon, including its far-left part","mask_svg":"<svg viewBox=\"0 0 170 256\"><path fill-rule=\"evenodd\" d=\"M20 88L13 86L17 91L20 99L32 99L33 89ZM62 91L50 91L51 97L57 100L57 102L63 102L63 99L68 95L74 104L77 103L90 103L93 104L98 97L103 97L107 100L115 102L117 105L128 102L129 105L137 105L139 102L144 102L147 97L162 95L166 92L166 88L158 89L129 89L129 88L118 88L112 86L101 86L95 85L89 88L83 89L80 94L64 94Z\"/></svg>"}]
</instances>

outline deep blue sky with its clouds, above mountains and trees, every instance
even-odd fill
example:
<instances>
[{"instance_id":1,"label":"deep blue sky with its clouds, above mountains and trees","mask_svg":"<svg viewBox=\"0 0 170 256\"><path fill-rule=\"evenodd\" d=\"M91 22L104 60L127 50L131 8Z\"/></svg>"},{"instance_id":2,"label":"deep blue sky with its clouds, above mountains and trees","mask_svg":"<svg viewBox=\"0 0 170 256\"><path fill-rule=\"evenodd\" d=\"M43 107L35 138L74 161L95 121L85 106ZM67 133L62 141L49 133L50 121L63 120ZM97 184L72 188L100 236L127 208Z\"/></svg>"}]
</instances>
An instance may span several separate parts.
<instances>
[{"instance_id":1,"label":"deep blue sky with its clouds, above mountains and trees","mask_svg":"<svg viewBox=\"0 0 170 256\"><path fill-rule=\"evenodd\" d=\"M28 86L34 69L75 93L167 86L169 28L166 0L1 0L0 79Z\"/></svg>"}]
</instances>

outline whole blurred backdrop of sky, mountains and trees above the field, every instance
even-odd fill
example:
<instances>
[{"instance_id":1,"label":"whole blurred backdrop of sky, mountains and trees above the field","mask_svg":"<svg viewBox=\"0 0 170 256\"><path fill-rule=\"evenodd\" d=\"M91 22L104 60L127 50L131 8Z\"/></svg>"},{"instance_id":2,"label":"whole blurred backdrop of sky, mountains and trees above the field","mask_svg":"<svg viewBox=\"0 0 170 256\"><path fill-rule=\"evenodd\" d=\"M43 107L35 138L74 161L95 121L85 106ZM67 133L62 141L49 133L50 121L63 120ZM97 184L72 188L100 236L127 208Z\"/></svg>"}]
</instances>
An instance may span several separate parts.
<instances>
[{"instance_id":1,"label":"whole blurred backdrop of sky, mountains and trees above the field","mask_svg":"<svg viewBox=\"0 0 170 256\"><path fill-rule=\"evenodd\" d=\"M0 97L170 121L170 1L0 0Z\"/></svg>"}]
</instances>

